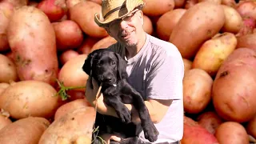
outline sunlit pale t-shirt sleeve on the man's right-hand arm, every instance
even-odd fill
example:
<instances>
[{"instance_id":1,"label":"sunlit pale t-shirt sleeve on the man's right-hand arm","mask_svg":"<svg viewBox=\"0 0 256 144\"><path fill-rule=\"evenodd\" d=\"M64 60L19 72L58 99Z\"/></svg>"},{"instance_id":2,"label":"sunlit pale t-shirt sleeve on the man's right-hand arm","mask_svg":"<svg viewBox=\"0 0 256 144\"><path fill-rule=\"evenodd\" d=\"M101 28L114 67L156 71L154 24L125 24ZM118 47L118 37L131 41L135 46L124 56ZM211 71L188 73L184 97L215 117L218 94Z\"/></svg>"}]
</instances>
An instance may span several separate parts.
<instances>
[{"instance_id":1,"label":"sunlit pale t-shirt sleeve on the man's right-hand arm","mask_svg":"<svg viewBox=\"0 0 256 144\"><path fill-rule=\"evenodd\" d=\"M182 99L184 64L179 54L159 54L146 78L146 96L153 99Z\"/></svg>"}]
</instances>

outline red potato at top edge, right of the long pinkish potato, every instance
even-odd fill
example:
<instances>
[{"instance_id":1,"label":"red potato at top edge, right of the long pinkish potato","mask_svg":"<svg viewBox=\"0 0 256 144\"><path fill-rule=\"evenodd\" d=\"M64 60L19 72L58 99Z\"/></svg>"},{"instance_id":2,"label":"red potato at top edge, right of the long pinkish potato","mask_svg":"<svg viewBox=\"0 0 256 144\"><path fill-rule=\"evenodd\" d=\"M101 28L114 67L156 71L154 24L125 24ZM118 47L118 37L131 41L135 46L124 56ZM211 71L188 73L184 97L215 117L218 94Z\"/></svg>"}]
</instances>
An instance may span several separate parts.
<instances>
[{"instance_id":1,"label":"red potato at top edge, right of the long pinkish potato","mask_svg":"<svg viewBox=\"0 0 256 144\"><path fill-rule=\"evenodd\" d=\"M67 11L65 0L42 0L38 3L37 8L47 15L50 22L60 20Z\"/></svg>"}]
</instances>

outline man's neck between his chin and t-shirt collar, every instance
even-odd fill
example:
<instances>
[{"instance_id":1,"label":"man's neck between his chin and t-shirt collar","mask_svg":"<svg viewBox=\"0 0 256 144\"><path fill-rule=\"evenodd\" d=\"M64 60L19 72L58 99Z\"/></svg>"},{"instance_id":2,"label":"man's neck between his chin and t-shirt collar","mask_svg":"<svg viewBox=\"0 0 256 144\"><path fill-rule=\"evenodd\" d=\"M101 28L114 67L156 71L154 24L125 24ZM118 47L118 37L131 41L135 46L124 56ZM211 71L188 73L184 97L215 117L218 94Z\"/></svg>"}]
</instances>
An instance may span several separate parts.
<instances>
[{"instance_id":1,"label":"man's neck between his chin and t-shirt collar","mask_svg":"<svg viewBox=\"0 0 256 144\"><path fill-rule=\"evenodd\" d=\"M146 32L142 34L136 46L126 47L126 58L133 58L142 49L146 42Z\"/></svg>"}]
</instances>

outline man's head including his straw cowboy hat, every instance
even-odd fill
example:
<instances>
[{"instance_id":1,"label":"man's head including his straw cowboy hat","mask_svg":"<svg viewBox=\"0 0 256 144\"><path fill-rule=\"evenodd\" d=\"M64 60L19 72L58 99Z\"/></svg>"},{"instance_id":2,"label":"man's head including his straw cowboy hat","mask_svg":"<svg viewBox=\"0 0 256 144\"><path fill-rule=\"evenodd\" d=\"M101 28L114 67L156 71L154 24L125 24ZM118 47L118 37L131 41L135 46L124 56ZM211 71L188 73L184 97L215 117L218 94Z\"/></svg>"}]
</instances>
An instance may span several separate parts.
<instances>
[{"instance_id":1,"label":"man's head including his straw cowboy hat","mask_svg":"<svg viewBox=\"0 0 256 144\"><path fill-rule=\"evenodd\" d=\"M142 0L102 0L102 14L95 14L94 21L118 42L136 46L143 30Z\"/></svg>"}]
</instances>

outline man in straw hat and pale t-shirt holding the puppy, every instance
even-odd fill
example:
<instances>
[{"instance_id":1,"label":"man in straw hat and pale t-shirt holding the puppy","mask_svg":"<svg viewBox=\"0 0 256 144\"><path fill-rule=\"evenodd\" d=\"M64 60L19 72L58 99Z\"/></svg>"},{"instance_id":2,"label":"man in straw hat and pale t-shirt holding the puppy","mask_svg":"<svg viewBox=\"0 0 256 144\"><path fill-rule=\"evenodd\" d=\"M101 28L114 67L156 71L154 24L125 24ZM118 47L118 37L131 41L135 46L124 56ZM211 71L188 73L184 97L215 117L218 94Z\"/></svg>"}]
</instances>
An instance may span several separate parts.
<instances>
[{"instance_id":1,"label":"man in straw hat and pale t-shirt holding the puppy","mask_svg":"<svg viewBox=\"0 0 256 144\"><path fill-rule=\"evenodd\" d=\"M127 61L128 82L145 100L150 118L158 129L158 140L154 143L179 143L183 135L182 79L184 66L182 56L170 42L154 38L143 30L142 0L103 0L102 14L95 14L95 22L106 29L118 42L109 49ZM89 82L87 82L88 84ZM114 109L106 106L102 95L95 100L98 91L86 86L86 98L101 114L118 117ZM136 110L130 104L132 121L140 122ZM119 141L114 135L101 136L106 142ZM143 132L139 140L150 143Z\"/></svg>"}]
</instances>

